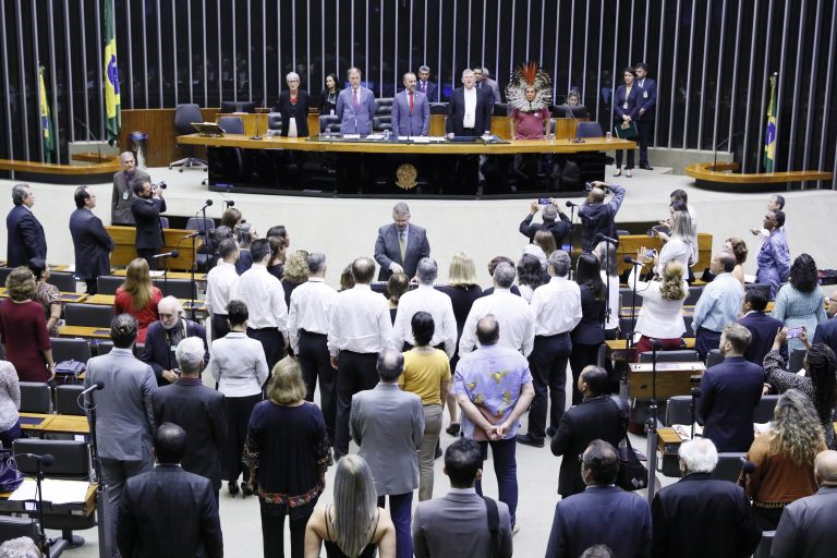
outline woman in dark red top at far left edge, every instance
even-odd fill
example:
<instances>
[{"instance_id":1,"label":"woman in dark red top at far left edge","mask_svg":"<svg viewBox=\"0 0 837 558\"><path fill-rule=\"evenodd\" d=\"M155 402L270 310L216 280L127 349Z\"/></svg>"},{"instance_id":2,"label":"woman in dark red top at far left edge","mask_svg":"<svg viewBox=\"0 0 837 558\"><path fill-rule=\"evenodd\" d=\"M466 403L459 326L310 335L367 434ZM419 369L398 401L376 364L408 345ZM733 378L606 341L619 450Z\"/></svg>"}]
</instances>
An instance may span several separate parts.
<instances>
[{"instance_id":1,"label":"woman in dark red top at far left edge","mask_svg":"<svg viewBox=\"0 0 837 558\"><path fill-rule=\"evenodd\" d=\"M17 267L5 279L9 300L0 304L0 340L21 381L49 381L56 375L44 306L35 302L35 276Z\"/></svg>"}]
</instances>

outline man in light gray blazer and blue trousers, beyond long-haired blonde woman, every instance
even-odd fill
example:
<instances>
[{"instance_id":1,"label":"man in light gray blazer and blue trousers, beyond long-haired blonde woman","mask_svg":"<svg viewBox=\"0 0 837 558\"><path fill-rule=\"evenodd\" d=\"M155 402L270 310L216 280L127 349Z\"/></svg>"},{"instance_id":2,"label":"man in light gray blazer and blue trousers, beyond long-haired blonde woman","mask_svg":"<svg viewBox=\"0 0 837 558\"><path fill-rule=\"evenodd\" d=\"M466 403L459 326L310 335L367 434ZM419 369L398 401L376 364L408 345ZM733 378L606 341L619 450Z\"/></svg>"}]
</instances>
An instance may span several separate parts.
<instances>
[{"instance_id":1,"label":"man in light gray blazer and blue trousers, beyond long-haired blonde woman","mask_svg":"<svg viewBox=\"0 0 837 558\"><path fill-rule=\"evenodd\" d=\"M378 355L375 389L360 391L352 398L349 426L360 454L369 464L384 507L389 496L389 510L396 525L396 555L413 556L410 536L410 511L413 490L418 487L418 453L424 437L422 399L401 391L398 377L404 371L404 356L392 349Z\"/></svg>"}]
</instances>

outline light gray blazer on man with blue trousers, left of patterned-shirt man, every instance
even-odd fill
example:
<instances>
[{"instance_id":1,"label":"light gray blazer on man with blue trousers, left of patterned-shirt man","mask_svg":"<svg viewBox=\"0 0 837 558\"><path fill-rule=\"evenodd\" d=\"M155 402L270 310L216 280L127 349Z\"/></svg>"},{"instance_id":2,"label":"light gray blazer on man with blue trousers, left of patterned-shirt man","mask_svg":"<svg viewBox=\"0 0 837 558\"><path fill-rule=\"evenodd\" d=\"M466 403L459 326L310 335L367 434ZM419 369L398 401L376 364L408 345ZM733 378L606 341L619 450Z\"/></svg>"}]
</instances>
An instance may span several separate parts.
<instances>
[{"instance_id":1,"label":"light gray blazer on man with blue trousers, left of patterned-shirt man","mask_svg":"<svg viewBox=\"0 0 837 558\"><path fill-rule=\"evenodd\" d=\"M378 384L352 397L352 439L361 447L378 496L418 487L418 448L424 437L422 399L398 384Z\"/></svg>"}]
</instances>

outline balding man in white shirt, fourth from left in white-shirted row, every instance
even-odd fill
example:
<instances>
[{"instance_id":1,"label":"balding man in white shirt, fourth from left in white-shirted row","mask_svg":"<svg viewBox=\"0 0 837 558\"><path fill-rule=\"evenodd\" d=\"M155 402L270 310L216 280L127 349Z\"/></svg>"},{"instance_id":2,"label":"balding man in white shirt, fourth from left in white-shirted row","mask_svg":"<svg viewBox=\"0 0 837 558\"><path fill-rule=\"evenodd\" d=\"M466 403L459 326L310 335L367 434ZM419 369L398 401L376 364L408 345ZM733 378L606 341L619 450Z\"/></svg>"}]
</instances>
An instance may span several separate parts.
<instances>
[{"instance_id":1,"label":"balding man in white shirt, fourth from left in white-shirted row","mask_svg":"<svg viewBox=\"0 0 837 558\"><path fill-rule=\"evenodd\" d=\"M390 345L392 323L387 300L369 287L375 262L352 262L354 287L338 294L328 322L328 352L337 369L335 459L349 452L352 396L378 384L378 353Z\"/></svg>"}]
</instances>

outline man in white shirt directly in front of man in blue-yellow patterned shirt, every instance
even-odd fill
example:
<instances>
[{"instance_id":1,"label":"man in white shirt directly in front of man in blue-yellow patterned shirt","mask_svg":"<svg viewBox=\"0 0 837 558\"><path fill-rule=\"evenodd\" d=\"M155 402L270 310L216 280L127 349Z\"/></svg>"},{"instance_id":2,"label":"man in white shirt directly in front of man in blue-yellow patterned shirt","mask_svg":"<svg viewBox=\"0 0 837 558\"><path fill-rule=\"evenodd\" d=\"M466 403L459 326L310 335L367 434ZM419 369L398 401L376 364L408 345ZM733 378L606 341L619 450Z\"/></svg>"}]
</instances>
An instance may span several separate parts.
<instances>
[{"instance_id":1,"label":"man in white shirt directly in front of man in blue-yellow patterned shirt","mask_svg":"<svg viewBox=\"0 0 837 558\"><path fill-rule=\"evenodd\" d=\"M514 268L502 263L494 270L494 292L474 301L462 328L459 341L459 355L470 353L476 348L476 324L481 318L493 314L500 324L499 344L520 351L529 356L535 337L535 323L529 303L522 296L511 294L509 289L514 282Z\"/></svg>"}]
</instances>

